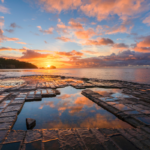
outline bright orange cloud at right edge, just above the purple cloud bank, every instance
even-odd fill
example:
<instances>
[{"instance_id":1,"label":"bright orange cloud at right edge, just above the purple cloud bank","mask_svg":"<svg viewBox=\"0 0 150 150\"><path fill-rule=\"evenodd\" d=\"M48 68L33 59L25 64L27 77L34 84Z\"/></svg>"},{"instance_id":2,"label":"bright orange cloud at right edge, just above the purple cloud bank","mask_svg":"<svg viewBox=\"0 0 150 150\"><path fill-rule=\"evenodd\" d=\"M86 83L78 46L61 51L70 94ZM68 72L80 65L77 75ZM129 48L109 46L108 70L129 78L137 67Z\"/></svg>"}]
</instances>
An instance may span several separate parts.
<instances>
[{"instance_id":1,"label":"bright orange cloud at right edge, just above the purple cloud bank","mask_svg":"<svg viewBox=\"0 0 150 150\"><path fill-rule=\"evenodd\" d=\"M150 52L150 35L142 37L142 39L142 41L136 44L134 50L139 52Z\"/></svg>"}]
</instances>

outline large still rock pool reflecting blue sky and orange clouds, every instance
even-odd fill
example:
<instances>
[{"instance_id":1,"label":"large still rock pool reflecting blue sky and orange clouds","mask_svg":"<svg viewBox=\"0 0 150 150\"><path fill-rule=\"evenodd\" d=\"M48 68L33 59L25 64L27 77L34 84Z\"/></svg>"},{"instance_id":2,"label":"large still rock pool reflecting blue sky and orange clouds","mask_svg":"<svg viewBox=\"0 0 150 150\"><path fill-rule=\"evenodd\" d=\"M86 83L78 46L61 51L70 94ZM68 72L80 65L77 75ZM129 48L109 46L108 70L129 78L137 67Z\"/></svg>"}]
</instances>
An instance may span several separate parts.
<instances>
[{"instance_id":1,"label":"large still rock pool reflecting blue sky and orange clouds","mask_svg":"<svg viewBox=\"0 0 150 150\"><path fill-rule=\"evenodd\" d=\"M130 128L113 114L101 108L72 87L58 89L61 95L25 102L13 126L27 130L26 118L36 120L34 129L49 128Z\"/></svg>"}]
</instances>

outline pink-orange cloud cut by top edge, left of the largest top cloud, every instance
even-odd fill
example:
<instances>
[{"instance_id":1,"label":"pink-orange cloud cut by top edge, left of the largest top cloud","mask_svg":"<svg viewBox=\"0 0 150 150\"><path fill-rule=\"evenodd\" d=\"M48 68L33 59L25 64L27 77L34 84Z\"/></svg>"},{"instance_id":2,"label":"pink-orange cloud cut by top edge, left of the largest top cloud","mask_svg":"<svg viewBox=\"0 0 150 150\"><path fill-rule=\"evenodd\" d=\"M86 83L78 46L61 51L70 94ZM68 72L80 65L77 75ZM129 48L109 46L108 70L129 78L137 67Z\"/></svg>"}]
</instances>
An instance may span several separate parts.
<instances>
[{"instance_id":1,"label":"pink-orange cloud cut by top edge, left of the largest top cloud","mask_svg":"<svg viewBox=\"0 0 150 150\"><path fill-rule=\"evenodd\" d=\"M60 13L63 10L76 9L81 0L38 0L38 4L47 12Z\"/></svg>"}]
</instances>

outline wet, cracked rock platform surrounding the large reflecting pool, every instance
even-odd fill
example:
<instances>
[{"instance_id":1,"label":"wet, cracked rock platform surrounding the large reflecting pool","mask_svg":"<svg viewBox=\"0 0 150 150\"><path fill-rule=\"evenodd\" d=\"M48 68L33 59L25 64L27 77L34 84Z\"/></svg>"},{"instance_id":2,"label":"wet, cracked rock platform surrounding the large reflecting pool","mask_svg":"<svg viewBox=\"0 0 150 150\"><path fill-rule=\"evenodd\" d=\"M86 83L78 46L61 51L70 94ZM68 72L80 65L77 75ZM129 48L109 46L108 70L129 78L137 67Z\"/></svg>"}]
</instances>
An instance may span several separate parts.
<instances>
[{"instance_id":1,"label":"wet, cracked rock platform surrounding the large reflecting pool","mask_svg":"<svg viewBox=\"0 0 150 150\"><path fill-rule=\"evenodd\" d=\"M119 80L22 76L24 86L5 88L0 95L0 150L150 150L150 85ZM34 80L35 79L35 80ZM43 80L44 79L44 80ZM57 88L85 89L82 94L132 125L131 129L40 129L27 118L27 131L12 130L25 101L53 97ZM112 99L86 88L119 88L130 98ZM5 104L5 105L4 105Z\"/></svg>"}]
</instances>

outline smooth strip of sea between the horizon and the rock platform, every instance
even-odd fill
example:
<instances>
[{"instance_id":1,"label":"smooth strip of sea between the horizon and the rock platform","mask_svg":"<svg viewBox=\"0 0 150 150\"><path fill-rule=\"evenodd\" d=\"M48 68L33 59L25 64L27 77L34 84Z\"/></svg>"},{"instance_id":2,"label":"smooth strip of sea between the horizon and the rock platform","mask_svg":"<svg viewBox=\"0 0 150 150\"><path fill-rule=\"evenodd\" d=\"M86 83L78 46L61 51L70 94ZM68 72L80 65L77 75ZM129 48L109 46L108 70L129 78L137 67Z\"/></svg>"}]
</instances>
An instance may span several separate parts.
<instances>
[{"instance_id":1,"label":"smooth strip of sea between the horizon and the rock platform","mask_svg":"<svg viewBox=\"0 0 150 150\"><path fill-rule=\"evenodd\" d=\"M150 68L0 69L0 78L44 74L125 80L150 84Z\"/></svg>"}]
</instances>

